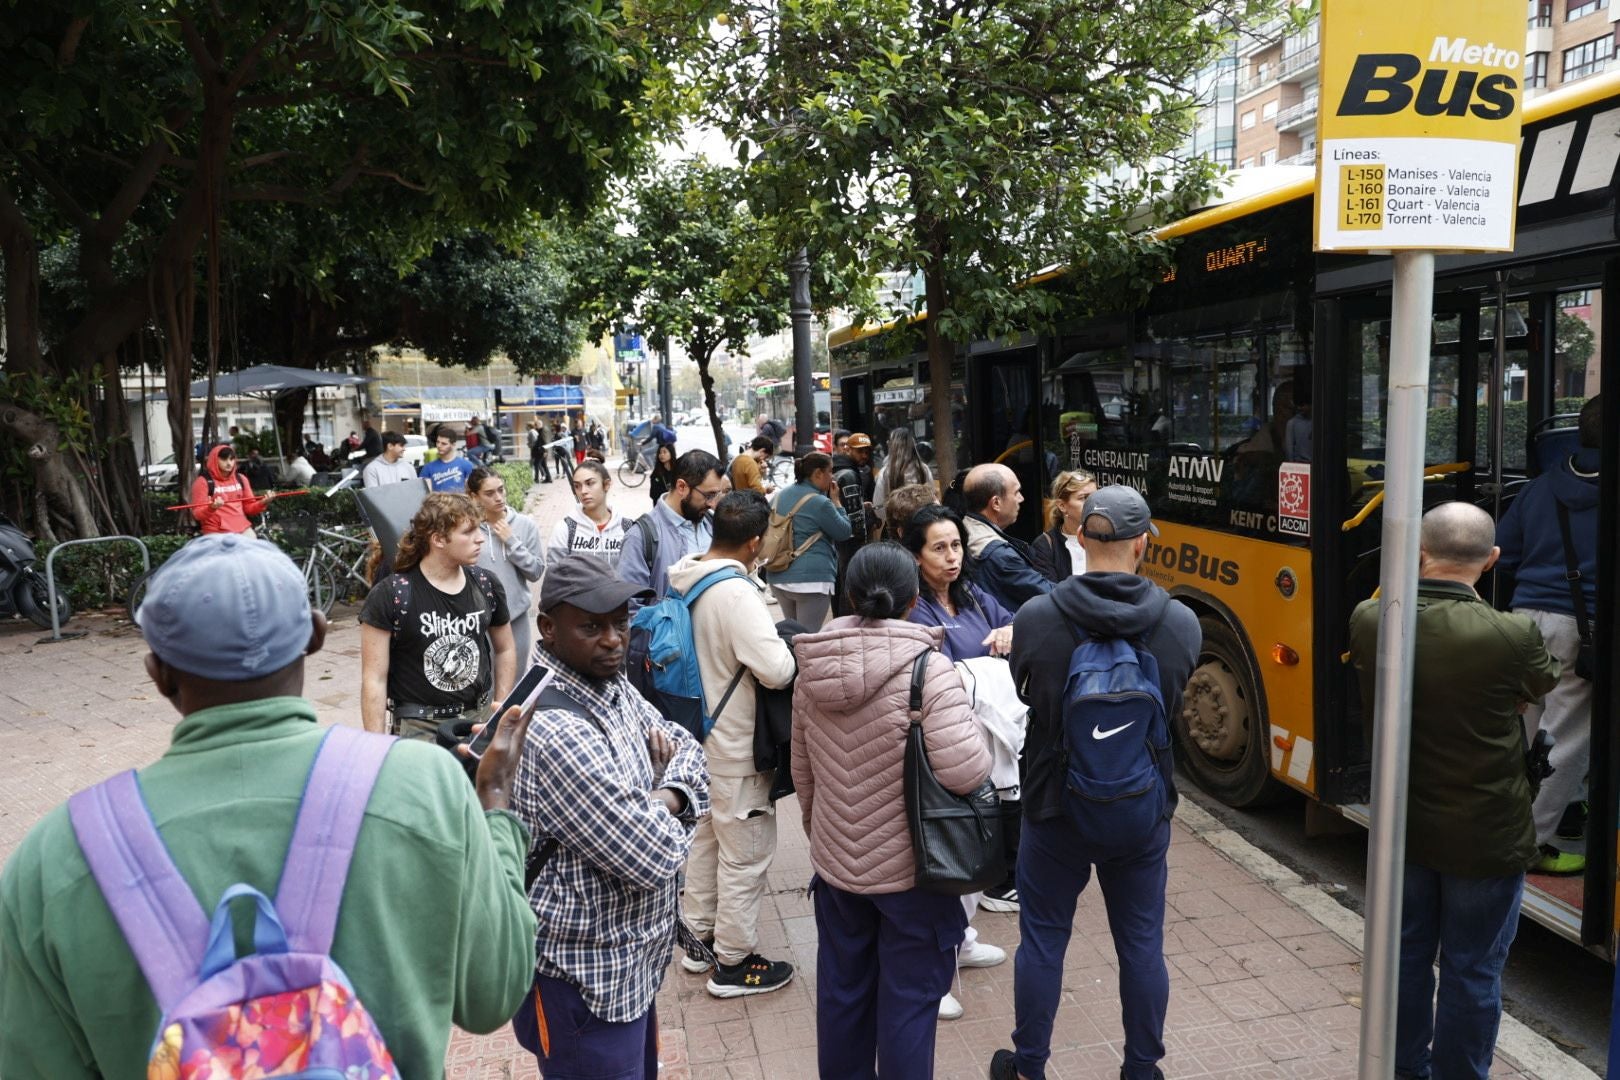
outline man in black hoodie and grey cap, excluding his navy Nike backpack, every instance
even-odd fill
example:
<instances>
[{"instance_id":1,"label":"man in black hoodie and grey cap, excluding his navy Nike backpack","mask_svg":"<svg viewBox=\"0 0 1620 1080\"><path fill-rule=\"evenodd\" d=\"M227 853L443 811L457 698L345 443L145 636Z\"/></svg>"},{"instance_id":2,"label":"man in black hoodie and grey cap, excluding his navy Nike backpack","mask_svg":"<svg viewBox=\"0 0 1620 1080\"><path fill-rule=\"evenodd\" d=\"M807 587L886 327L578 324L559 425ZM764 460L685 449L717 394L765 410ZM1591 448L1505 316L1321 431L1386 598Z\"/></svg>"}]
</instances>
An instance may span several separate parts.
<instances>
[{"instance_id":1,"label":"man in black hoodie and grey cap, excluding his navy Nike backpack","mask_svg":"<svg viewBox=\"0 0 1620 1080\"><path fill-rule=\"evenodd\" d=\"M1119 959L1124 1012L1121 1080L1158 1080L1165 1056L1165 881L1170 816L1176 808L1174 764L1158 755L1165 811L1153 839L1134 850L1087 845L1064 813L1063 699L1069 651L1053 641L1124 638L1145 644L1158 661L1165 716L1181 708L1181 688L1197 661L1202 633L1191 609L1137 573L1149 534L1157 536L1142 495L1126 486L1103 487L1085 500L1081 546L1087 572L1024 604L1013 620L1013 680L1030 706L1024 755L1024 827L1019 839L1017 892L1021 944L1013 972L1013 1044L996 1051L991 1080L1043 1080L1051 1056L1051 1025L1063 993L1063 957L1074 929L1074 908L1097 870L1108 907L1108 928ZM1115 730L1092 732L1110 738ZM1123 733L1123 732L1121 732Z\"/></svg>"}]
</instances>

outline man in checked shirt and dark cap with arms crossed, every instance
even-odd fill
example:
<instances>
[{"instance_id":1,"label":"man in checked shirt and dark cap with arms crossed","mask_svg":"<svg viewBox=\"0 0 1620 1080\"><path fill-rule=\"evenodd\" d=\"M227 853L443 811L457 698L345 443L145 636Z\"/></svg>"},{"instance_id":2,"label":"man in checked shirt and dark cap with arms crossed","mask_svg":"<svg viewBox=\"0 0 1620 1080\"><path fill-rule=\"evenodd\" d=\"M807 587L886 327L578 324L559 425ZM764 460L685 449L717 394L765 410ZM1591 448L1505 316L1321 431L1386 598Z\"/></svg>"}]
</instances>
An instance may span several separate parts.
<instances>
[{"instance_id":1,"label":"man in checked shirt and dark cap with arms crossed","mask_svg":"<svg viewBox=\"0 0 1620 1080\"><path fill-rule=\"evenodd\" d=\"M514 1030L548 1077L658 1075L653 997L710 797L701 746L624 677L630 601L651 596L601 559L562 559L539 588L533 659L556 675L512 797L539 845L535 1007Z\"/></svg>"}]
</instances>

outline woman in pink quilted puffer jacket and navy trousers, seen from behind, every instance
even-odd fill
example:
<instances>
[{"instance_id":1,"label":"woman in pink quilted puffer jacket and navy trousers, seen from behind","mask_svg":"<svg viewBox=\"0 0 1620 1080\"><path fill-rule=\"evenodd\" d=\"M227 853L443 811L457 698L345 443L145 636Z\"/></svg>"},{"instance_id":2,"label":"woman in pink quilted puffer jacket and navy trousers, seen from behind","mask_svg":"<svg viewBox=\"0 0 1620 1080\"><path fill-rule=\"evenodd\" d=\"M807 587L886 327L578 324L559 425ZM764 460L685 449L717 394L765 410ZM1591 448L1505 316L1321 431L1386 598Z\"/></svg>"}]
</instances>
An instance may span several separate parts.
<instances>
[{"instance_id":1,"label":"woman in pink quilted puffer jacket and navy trousers, seen from behind","mask_svg":"<svg viewBox=\"0 0 1620 1080\"><path fill-rule=\"evenodd\" d=\"M938 653L943 630L906 622L917 560L894 542L849 563L855 615L794 640L794 785L810 836L821 1077L928 1080L940 997L967 916L959 897L914 887L902 763L910 672L925 649L928 763L966 795L990 774L967 691ZM873 967L876 978L873 978Z\"/></svg>"}]
</instances>

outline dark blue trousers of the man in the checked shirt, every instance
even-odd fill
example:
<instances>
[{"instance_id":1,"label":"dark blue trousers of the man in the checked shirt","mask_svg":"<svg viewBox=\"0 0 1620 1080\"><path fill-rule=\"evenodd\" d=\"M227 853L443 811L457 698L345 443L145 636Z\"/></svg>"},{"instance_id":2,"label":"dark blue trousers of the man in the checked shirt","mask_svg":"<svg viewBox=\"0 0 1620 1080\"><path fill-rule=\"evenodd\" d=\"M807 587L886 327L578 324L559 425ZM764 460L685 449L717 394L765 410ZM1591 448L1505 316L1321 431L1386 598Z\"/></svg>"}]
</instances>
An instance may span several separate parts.
<instances>
[{"instance_id":1,"label":"dark blue trousers of the man in the checked shirt","mask_svg":"<svg viewBox=\"0 0 1620 1080\"><path fill-rule=\"evenodd\" d=\"M658 1006L635 1020L596 1017L572 983L535 976L535 993L512 1017L512 1033L535 1051L546 1080L656 1080Z\"/></svg>"}]
</instances>

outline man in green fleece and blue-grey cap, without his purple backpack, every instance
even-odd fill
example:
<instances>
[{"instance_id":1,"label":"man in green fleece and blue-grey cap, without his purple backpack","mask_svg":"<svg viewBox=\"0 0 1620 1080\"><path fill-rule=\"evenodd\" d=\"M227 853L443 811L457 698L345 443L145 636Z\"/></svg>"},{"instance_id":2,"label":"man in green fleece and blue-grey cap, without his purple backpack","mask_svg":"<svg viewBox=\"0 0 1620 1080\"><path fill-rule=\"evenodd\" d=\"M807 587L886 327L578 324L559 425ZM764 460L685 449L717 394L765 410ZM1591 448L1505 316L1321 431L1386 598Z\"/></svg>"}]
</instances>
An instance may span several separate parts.
<instances>
[{"instance_id":1,"label":"man in green fleece and blue-grey cap, without his purple backpack","mask_svg":"<svg viewBox=\"0 0 1620 1080\"><path fill-rule=\"evenodd\" d=\"M146 672L181 716L168 751L136 774L181 887L207 910L238 882L277 895L327 737L301 696L305 656L321 649L326 617L274 544L227 533L175 552L138 622ZM345 766L373 738L384 737L356 732ZM330 955L400 1075L441 1075L450 1025L494 1031L528 988L528 829L507 810L522 738L514 712L480 764L476 792L442 750L387 746L364 805ZM201 955L206 939L193 944ZM0 874L0 1075L136 1075L157 1025L154 991L58 806Z\"/></svg>"}]
</instances>

